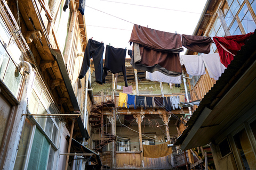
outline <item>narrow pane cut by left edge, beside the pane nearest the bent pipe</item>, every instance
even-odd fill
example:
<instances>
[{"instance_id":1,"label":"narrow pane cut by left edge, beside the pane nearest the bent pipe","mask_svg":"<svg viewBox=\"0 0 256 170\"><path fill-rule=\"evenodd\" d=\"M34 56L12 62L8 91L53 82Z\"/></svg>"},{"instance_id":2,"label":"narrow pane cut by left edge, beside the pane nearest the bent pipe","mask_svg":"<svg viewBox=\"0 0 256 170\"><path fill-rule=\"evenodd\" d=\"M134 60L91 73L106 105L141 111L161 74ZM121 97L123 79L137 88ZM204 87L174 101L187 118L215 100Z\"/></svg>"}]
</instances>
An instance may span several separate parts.
<instances>
[{"instance_id":1,"label":"narrow pane cut by left edge, beside the pane nearest the bent pipe","mask_svg":"<svg viewBox=\"0 0 256 170\"><path fill-rule=\"evenodd\" d=\"M0 33L1 35L1 33ZM3 47L2 43L0 44L0 79L3 80L4 73L7 68L7 64L9 61L9 55L7 54L5 48Z\"/></svg>"}]
</instances>

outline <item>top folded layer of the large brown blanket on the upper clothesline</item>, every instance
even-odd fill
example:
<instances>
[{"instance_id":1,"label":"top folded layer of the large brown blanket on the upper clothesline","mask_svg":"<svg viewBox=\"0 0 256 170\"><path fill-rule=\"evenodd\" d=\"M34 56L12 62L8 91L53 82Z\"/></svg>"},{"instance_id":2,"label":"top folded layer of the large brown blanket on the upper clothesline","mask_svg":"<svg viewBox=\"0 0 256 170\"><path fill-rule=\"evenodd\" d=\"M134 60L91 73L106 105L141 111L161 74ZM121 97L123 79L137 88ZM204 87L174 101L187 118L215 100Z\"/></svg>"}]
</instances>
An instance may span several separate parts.
<instances>
[{"instance_id":1,"label":"top folded layer of the large brown blanket on the upper clothesline","mask_svg":"<svg viewBox=\"0 0 256 170\"><path fill-rule=\"evenodd\" d=\"M130 42L163 52L183 52L179 34L158 31L137 24L133 26Z\"/></svg>"}]
</instances>

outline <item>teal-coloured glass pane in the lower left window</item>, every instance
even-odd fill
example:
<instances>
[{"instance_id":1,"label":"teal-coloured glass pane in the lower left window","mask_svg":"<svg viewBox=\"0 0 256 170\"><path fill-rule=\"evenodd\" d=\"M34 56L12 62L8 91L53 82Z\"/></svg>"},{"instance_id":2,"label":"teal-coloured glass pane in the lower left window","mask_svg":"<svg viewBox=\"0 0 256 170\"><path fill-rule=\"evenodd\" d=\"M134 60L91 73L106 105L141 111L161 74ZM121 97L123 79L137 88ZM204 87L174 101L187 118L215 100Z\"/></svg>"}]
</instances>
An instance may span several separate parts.
<instances>
[{"instance_id":1,"label":"teal-coloured glass pane in the lower left window","mask_svg":"<svg viewBox=\"0 0 256 170\"><path fill-rule=\"evenodd\" d=\"M49 155L50 143L36 128L33 145L30 152L28 169L45 170Z\"/></svg>"}]
</instances>

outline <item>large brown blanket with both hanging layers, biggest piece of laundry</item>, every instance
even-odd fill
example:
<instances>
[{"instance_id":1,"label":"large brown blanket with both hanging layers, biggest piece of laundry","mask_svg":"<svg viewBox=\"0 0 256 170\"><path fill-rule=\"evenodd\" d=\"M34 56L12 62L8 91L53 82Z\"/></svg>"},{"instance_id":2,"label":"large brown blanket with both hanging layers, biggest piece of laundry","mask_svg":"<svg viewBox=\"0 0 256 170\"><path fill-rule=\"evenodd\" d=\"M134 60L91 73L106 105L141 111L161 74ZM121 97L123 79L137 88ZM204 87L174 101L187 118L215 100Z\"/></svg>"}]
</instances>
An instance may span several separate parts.
<instances>
[{"instance_id":1,"label":"large brown blanket with both hanging layers, biggest piece of laundry","mask_svg":"<svg viewBox=\"0 0 256 170\"><path fill-rule=\"evenodd\" d=\"M176 77L181 75L179 52L183 51L179 34L158 31L134 24L131 65L134 69L159 71Z\"/></svg>"}]
</instances>

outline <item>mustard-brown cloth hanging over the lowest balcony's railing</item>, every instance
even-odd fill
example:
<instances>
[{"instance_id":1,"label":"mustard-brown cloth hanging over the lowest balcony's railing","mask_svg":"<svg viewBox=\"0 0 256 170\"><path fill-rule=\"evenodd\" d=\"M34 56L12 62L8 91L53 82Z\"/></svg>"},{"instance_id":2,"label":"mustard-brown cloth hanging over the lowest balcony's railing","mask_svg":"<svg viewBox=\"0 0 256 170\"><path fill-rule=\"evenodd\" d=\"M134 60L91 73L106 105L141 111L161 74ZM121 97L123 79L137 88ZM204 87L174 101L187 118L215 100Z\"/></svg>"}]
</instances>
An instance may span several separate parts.
<instances>
[{"instance_id":1,"label":"mustard-brown cloth hanging over the lowest balcony's railing","mask_svg":"<svg viewBox=\"0 0 256 170\"><path fill-rule=\"evenodd\" d=\"M168 148L170 141L160 145L142 145L143 157L160 158L172 154L172 148Z\"/></svg>"}]
</instances>

